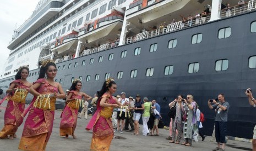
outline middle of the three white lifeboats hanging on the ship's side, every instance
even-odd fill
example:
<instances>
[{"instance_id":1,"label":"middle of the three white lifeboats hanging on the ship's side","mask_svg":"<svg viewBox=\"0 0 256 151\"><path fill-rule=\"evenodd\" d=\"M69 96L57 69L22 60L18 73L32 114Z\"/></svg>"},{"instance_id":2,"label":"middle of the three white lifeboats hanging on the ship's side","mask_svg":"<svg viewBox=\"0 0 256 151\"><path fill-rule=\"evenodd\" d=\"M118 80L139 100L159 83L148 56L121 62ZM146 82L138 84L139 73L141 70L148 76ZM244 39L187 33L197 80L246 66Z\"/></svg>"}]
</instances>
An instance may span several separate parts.
<instances>
[{"instance_id":1,"label":"middle of the three white lifeboats hanging on the ship's side","mask_svg":"<svg viewBox=\"0 0 256 151\"><path fill-rule=\"evenodd\" d=\"M91 46L105 44L107 41L113 41L119 38L118 35L121 34L122 25L123 16L105 16L81 28L78 39L86 45Z\"/></svg>"}]
</instances>

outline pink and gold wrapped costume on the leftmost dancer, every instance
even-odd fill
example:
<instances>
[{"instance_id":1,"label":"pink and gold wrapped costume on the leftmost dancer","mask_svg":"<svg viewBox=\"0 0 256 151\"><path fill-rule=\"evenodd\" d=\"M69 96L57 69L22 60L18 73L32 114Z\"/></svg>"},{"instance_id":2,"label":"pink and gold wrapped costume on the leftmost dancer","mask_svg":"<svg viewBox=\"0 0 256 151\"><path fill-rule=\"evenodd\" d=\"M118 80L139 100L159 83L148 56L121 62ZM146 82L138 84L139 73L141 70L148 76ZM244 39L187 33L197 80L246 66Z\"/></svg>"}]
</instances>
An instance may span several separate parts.
<instances>
[{"instance_id":1,"label":"pink and gold wrapped costume on the leftmost dancer","mask_svg":"<svg viewBox=\"0 0 256 151\"><path fill-rule=\"evenodd\" d=\"M23 113L25 108L25 98L28 95L26 89L28 89L29 86L24 85L20 79L14 80L12 83L18 83L14 88L17 88L19 91L12 92L12 94L8 94L7 97L3 98L3 101L8 100L8 103L6 112L4 113L4 127L0 131L0 138L14 135L18 127L23 123L21 113Z\"/></svg>"}]
</instances>

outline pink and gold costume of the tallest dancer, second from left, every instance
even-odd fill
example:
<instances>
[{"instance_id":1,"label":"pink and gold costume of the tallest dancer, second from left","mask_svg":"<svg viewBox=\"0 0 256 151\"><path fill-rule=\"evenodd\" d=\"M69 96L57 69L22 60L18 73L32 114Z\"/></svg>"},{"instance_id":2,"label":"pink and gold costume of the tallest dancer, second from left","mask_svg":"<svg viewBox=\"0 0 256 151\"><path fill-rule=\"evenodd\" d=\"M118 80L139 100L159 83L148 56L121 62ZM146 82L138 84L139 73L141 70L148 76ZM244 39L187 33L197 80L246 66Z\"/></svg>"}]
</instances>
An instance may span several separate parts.
<instances>
[{"instance_id":1,"label":"pink and gold costume of the tallest dancer, second from left","mask_svg":"<svg viewBox=\"0 0 256 151\"><path fill-rule=\"evenodd\" d=\"M21 150L45 150L52 133L53 119L55 115L55 97L44 95L58 92L58 88L50 85L46 79L38 79L35 83L41 83L36 90L43 97L34 97L31 102L28 118L25 121L19 149ZM28 112L28 109L26 112ZM26 114L26 113L23 113Z\"/></svg>"}]
</instances>

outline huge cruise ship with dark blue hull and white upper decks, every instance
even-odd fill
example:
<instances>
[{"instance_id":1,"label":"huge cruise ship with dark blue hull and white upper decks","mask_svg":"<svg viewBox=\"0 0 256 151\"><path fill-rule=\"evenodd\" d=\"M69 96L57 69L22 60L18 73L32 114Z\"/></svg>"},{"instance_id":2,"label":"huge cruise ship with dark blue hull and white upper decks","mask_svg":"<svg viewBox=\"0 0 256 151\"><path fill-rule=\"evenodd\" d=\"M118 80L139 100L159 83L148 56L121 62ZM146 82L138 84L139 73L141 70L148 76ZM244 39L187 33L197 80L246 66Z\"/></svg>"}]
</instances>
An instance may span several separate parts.
<instances>
[{"instance_id":1,"label":"huge cruise ship with dark blue hull and white upper decks","mask_svg":"<svg viewBox=\"0 0 256 151\"><path fill-rule=\"evenodd\" d=\"M252 138L255 109L244 92L256 91L256 1L237 2L41 0L7 46L1 89L20 66L29 66L34 82L40 61L50 59L64 90L78 78L93 96L112 77L116 95L155 99L165 125L168 103L192 94L205 115L206 135L215 117L207 102L223 93L230 103L228 135Z\"/></svg>"}]
</instances>

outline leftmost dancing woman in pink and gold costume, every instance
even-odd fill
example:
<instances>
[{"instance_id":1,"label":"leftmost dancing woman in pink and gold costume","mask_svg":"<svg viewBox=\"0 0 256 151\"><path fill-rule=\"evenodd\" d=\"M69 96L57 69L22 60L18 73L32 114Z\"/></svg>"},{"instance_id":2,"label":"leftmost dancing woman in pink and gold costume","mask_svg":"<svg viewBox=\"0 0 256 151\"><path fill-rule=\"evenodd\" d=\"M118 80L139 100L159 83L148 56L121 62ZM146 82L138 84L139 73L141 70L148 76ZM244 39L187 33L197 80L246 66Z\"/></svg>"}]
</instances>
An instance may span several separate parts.
<instances>
[{"instance_id":1,"label":"leftmost dancing woman in pink and gold costume","mask_svg":"<svg viewBox=\"0 0 256 151\"><path fill-rule=\"evenodd\" d=\"M29 68L22 66L15 75L15 80L10 83L8 94L2 101L8 100L6 112L4 113L4 127L0 132L0 138L9 138L13 140L16 137L15 132L23 122L21 113L25 108L25 99L29 92L29 87L32 85L26 78L29 75ZM2 103L0 102L0 104Z\"/></svg>"}]
</instances>

